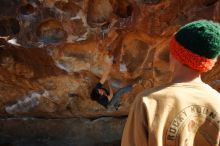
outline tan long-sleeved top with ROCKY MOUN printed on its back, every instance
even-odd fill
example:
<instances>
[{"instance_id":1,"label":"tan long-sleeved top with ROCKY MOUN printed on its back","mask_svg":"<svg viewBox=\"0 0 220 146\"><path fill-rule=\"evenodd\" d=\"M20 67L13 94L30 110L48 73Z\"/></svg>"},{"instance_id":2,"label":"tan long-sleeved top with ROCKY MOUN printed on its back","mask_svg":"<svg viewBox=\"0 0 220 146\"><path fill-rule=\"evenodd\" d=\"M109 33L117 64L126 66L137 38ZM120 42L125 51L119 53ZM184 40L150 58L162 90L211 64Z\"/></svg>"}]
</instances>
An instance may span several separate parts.
<instances>
[{"instance_id":1,"label":"tan long-sleeved top with ROCKY MOUN printed on its back","mask_svg":"<svg viewBox=\"0 0 220 146\"><path fill-rule=\"evenodd\" d=\"M220 146L220 94L207 84L146 90L133 103L122 146Z\"/></svg>"}]
</instances>

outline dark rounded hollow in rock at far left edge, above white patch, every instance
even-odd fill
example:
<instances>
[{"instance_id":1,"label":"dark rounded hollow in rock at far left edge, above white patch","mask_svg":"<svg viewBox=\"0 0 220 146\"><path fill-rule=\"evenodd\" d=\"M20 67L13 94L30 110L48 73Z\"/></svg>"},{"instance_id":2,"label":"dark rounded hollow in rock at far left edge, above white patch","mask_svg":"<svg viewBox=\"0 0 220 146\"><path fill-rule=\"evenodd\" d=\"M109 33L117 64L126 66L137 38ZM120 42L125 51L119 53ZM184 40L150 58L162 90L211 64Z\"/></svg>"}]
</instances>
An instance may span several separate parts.
<instances>
[{"instance_id":1,"label":"dark rounded hollow in rock at far left edge, above white patch","mask_svg":"<svg viewBox=\"0 0 220 146\"><path fill-rule=\"evenodd\" d=\"M15 18L4 18L0 20L0 36L9 36L19 33L20 25Z\"/></svg>"}]
</instances>

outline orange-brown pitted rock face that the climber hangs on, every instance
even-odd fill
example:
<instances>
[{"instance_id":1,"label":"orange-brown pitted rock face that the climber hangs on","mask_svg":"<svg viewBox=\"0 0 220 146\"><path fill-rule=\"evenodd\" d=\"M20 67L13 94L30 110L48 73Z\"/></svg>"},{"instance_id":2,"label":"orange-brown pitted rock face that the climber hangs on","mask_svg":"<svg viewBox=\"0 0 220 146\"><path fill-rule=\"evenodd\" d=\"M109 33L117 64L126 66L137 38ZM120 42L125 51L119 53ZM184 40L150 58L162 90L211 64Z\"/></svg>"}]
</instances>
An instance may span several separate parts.
<instances>
[{"instance_id":1,"label":"orange-brown pitted rock face that the climber hangs on","mask_svg":"<svg viewBox=\"0 0 220 146\"><path fill-rule=\"evenodd\" d=\"M62 118L68 121L68 118L126 116L137 93L170 81L169 39L180 26L198 19L220 22L220 1L1 0L0 115L6 119L38 117L60 121ZM137 83L120 97L118 110L106 109L90 98L92 88L111 58L114 64L105 84L107 88L116 92ZM202 75L203 80L218 91L219 62L212 71ZM16 125L17 119L14 120L9 125ZM119 125L122 131L124 118L110 118L106 125L77 120L73 122L86 128L82 128L79 139L65 145L82 142L86 133L89 139L95 139L93 145L120 143L121 133L117 133L117 128L108 133L110 137L117 133L117 137L109 141L105 140L108 136L98 137L106 127ZM36 120L36 128L43 125L41 122ZM94 135L88 132L94 128L87 127L90 124L97 128ZM3 125L0 126L3 131L0 145L7 144L17 131L7 133L7 124L6 127L0 125ZM60 126L56 123L54 127L56 125ZM31 126L34 129L34 125ZM68 126L66 128L68 131ZM5 132L10 136L3 141ZM13 145L31 145L28 141L20 142L17 140ZM41 144L47 145L45 143Z\"/></svg>"}]
</instances>

